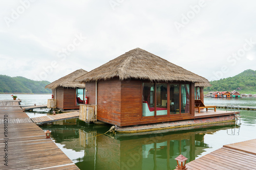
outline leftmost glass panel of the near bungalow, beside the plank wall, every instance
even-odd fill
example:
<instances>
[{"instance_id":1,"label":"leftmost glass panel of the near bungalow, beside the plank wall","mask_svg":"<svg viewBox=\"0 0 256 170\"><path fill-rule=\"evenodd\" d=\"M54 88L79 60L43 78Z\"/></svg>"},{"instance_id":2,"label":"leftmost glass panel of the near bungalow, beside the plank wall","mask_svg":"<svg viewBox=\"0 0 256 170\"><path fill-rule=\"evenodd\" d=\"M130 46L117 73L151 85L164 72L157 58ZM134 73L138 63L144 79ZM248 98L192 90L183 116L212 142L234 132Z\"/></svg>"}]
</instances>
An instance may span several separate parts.
<instances>
[{"instance_id":1,"label":"leftmost glass panel of the near bungalow, beside the plank wall","mask_svg":"<svg viewBox=\"0 0 256 170\"><path fill-rule=\"evenodd\" d=\"M155 116L155 84L143 83L142 116Z\"/></svg>"}]
</instances>

